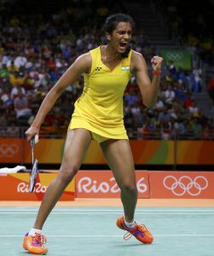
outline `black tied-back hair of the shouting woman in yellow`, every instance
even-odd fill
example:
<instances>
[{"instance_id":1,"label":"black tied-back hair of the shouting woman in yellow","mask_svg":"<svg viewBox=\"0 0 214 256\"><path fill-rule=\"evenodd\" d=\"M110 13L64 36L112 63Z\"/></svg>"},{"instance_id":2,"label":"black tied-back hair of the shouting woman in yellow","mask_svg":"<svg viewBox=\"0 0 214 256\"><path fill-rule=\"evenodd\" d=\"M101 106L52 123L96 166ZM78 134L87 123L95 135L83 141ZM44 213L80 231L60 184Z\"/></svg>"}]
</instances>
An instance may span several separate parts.
<instances>
[{"instance_id":1,"label":"black tied-back hair of the shouting woman in yellow","mask_svg":"<svg viewBox=\"0 0 214 256\"><path fill-rule=\"evenodd\" d=\"M105 21L104 26L102 27L102 32L103 33L112 33L113 30L116 29L118 26L119 22L129 22L132 30L135 29L135 21L132 19L130 15L124 15L124 14L115 14L115 15L110 15L107 17L107 20ZM104 44L107 44L107 38L105 37L103 40ZM125 49L125 52L123 54L123 58L127 58L130 53L130 45Z\"/></svg>"}]
</instances>

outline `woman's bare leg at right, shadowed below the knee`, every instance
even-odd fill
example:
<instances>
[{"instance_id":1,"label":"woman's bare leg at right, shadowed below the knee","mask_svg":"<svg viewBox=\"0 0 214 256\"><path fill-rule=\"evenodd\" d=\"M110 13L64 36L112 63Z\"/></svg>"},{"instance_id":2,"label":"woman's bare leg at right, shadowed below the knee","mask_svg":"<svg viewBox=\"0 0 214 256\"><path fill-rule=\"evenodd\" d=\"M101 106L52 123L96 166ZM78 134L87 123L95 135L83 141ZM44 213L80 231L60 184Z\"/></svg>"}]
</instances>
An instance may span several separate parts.
<instances>
[{"instance_id":1,"label":"woman's bare leg at right, shadowed below the knee","mask_svg":"<svg viewBox=\"0 0 214 256\"><path fill-rule=\"evenodd\" d=\"M136 174L128 140L107 140L101 149L121 189L121 201L127 222L134 220L137 201Z\"/></svg>"}]
</instances>

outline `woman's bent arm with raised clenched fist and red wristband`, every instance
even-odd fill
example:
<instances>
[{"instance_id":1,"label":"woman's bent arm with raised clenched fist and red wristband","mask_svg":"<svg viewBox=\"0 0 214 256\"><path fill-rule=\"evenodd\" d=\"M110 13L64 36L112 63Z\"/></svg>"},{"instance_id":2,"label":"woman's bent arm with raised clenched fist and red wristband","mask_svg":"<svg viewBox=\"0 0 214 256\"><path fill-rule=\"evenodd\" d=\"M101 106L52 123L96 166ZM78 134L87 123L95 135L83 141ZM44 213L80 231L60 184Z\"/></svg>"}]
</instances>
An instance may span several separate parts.
<instances>
[{"instance_id":1,"label":"woman's bent arm with raised clenched fist and red wristband","mask_svg":"<svg viewBox=\"0 0 214 256\"><path fill-rule=\"evenodd\" d=\"M147 106L147 108L152 108L157 101L163 58L159 56L153 56L151 62L153 67L152 82L149 79L147 73L147 63L143 56L140 53L133 51L131 66L132 69L136 71L136 82L140 88L143 103L145 106Z\"/></svg>"}]
</instances>

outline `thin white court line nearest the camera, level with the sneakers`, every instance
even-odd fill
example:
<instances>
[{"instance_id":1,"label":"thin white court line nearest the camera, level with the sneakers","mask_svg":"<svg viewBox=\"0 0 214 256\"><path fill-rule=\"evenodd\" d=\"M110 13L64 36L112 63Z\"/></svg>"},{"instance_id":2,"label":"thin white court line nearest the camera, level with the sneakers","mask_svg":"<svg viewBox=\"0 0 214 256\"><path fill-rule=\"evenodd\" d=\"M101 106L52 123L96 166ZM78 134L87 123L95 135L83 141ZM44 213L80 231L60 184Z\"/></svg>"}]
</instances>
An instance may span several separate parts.
<instances>
[{"instance_id":1,"label":"thin white court line nearest the camera, level with the sneakers","mask_svg":"<svg viewBox=\"0 0 214 256\"><path fill-rule=\"evenodd\" d=\"M48 237L121 237L122 235L53 235ZM154 234L153 236L214 236L214 234ZM20 235L0 235L0 237L23 237Z\"/></svg>"}]
</instances>

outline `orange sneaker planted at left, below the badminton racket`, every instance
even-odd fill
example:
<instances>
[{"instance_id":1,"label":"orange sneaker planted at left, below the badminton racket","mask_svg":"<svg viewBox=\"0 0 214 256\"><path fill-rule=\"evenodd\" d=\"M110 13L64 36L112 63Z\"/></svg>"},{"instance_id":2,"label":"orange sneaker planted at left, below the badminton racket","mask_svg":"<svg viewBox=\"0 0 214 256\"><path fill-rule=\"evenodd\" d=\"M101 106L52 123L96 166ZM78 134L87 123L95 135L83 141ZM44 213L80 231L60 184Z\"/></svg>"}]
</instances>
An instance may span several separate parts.
<instances>
[{"instance_id":1,"label":"orange sneaker planted at left, below the badminton racket","mask_svg":"<svg viewBox=\"0 0 214 256\"><path fill-rule=\"evenodd\" d=\"M48 248L43 245L46 243L46 237L36 233L36 236L26 236L23 241L23 248L32 254L46 254L48 253Z\"/></svg>"}]
</instances>

